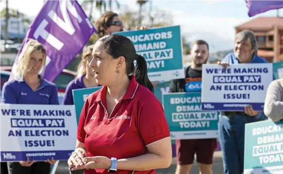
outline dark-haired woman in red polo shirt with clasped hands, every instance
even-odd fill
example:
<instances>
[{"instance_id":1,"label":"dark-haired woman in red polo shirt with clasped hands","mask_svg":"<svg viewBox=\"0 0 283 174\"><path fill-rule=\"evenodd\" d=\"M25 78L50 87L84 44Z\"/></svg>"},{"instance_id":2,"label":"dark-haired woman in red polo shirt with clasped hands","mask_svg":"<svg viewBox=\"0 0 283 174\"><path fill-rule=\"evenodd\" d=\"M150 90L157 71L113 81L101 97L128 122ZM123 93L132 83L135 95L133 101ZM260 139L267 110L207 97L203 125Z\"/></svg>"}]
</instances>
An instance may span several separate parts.
<instances>
[{"instance_id":1,"label":"dark-haired woman in red polo shirt with clasped hands","mask_svg":"<svg viewBox=\"0 0 283 174\"><path fill-rule=\"evenodd\" d=\"M144 57L122 35L101 37L92 56L89 66L103 87L83 106L68 165L85 174L155 174L169 167L170 132Z\"/></svg>"}]
</instances>

